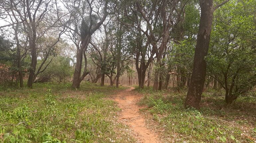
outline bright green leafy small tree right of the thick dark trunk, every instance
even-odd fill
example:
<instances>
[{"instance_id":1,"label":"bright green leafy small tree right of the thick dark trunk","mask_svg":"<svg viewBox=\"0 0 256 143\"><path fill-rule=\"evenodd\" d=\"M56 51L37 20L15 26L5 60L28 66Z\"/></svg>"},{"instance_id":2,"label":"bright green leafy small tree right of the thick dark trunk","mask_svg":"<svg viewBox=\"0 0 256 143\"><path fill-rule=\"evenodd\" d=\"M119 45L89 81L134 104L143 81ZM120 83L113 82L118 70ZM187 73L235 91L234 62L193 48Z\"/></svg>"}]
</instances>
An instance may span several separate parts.
<instances>
[{"instance_id":1,"label":"bright green leafy small tree right of the thick dark trunk","mask_svg":"<svg viewBox=\"0 0 256 143\"><path fill-rule=\"evenodd\" d=\"M232 100L255 85L255 13L247 11L255 3L233 0L215 12L207 70Z\"/></svg>"}]
</instances>

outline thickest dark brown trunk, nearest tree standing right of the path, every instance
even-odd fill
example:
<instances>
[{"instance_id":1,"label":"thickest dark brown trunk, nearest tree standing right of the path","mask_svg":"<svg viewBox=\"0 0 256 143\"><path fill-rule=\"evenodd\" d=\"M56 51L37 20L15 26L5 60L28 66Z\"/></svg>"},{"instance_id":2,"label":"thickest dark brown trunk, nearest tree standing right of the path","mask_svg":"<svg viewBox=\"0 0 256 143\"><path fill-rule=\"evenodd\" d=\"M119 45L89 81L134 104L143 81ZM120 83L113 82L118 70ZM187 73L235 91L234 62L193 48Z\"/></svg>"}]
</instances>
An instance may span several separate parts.
<instances>
[{"instance_id":1,"label":"thickest dark brown trunk, nearest tree standing right of the path","mask_svg":"<svg viewBox=\"0 0 256 143\"><path fill-rule=\"evenodd\" d=\"M199 3L201 8L201 18L195 46L193 71L185 102L186 108L194 107L196 109L199 109L205 81L206 61L204 57L207 55L209 49L211 25L214 12L213 0L199 0Z\"/></svg>"}]
</instances>

